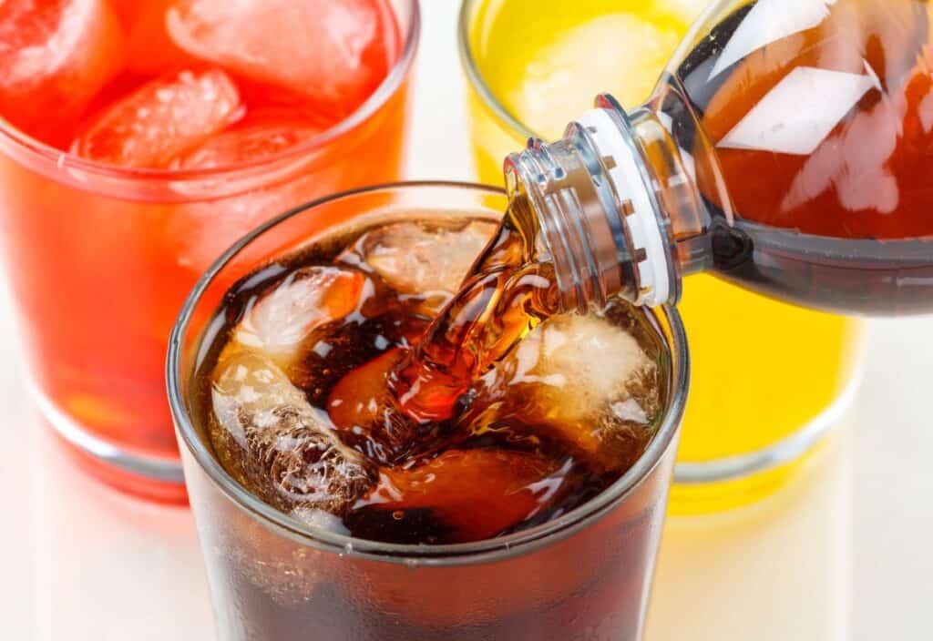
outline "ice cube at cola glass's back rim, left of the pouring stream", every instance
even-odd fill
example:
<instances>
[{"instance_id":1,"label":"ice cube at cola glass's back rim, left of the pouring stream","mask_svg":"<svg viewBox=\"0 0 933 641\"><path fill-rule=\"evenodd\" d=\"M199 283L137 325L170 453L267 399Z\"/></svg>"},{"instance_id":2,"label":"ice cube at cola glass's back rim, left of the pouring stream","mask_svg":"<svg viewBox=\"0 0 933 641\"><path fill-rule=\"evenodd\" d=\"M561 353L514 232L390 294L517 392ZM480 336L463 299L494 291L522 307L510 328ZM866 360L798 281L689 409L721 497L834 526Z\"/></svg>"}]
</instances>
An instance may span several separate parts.
<instances>
[{"instance_id":1,"label":"ice cube at cola glass's back rim, left of the pouring stream","mask_svg":"<svg viewBox=\"0 0 933 641\"><path fill-rule=\"evenodd\" d=\"M355 251L397 292L438 294L446 301L460 289L495 228L482 221L458 227L396 223L369 232Z\"/></svg>"}]
</instances>

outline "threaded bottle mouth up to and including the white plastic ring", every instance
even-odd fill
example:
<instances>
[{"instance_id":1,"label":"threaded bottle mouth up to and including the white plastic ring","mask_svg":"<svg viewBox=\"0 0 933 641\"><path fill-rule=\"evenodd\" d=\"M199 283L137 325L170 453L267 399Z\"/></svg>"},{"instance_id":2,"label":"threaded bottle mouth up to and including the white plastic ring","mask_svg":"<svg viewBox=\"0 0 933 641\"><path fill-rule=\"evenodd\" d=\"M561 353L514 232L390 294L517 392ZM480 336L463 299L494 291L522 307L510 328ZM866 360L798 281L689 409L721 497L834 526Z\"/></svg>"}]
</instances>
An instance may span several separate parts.
<instances>
[{"instance_id":1,"label":"threaded bottle mouth up to and including the white plastic ring","mask_svg":"<svg viewBox=\"0 0 933 641\"><path fill-rule=\"evenodd\" d=\"M631 133L600 102L564 139L506 159L510 198L528 198L554 264L564 311L621 295L657 307L670 297L659 214L637 169Z\"/></svg>"}]
</instances>

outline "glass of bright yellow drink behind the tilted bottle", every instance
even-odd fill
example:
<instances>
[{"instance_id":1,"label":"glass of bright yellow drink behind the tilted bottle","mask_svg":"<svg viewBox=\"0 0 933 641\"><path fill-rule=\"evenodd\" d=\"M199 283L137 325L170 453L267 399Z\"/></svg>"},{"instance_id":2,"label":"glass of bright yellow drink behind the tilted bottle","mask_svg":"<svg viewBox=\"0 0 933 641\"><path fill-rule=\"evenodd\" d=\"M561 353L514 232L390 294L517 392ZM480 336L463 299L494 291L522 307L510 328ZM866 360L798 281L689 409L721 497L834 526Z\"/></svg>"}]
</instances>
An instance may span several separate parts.
<instances>
[{"instance_id":1,"label":"glass of bright yellow drink behind the tilted bottle","mask_svg":"<svg viewBox=\"0 0 933 641\"><path fill-rule=\"evenodd\" d=\"M640 104L706 0L465 0L460 48L482 182L530 136L564 126L609 91ZM710 276L679 306L692 384L672 513L738 507L784 484L838 421L856 388L861 325ZM815 358L817 356L817 358Z\"/></svg>"}]
</instances>

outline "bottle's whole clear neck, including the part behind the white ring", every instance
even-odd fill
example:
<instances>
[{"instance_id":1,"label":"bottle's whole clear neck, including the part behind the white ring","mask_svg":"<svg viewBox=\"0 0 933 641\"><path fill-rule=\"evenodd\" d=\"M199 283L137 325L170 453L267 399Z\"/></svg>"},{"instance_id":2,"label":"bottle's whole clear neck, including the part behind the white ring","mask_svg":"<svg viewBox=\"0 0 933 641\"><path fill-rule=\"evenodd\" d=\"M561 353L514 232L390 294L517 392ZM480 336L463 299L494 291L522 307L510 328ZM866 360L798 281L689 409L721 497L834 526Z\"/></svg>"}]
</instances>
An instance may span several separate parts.
<instances>
[{"instance_id":1,"label":"bottle's whole clear neck, including the part behind the white ring","mask_svg":"<svg viewBox=\"0 0 933 641\"><path fill-rule=\"evenodd\" d=\"M614 295L675 304L682 269L703 268L703 248L690 246L701 234L671 224L689 219L679 210L691 200L692 176L648 108L630 118L600 96L562 140L532 139L505 170L509 197L526 198L536 213L564 309L603 306Z\"/></svg>"}]
</instances>

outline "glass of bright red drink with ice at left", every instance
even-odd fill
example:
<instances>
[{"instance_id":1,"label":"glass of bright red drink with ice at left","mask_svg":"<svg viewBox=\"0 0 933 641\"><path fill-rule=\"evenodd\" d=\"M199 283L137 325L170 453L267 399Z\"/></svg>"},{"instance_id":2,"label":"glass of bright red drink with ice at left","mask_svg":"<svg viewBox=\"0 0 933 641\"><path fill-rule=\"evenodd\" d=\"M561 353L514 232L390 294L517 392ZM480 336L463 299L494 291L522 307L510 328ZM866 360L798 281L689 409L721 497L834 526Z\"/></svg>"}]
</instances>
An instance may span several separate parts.
<instances>
[{"instance_id":1,"label":"glass of bright red drink with ice at left","mask_svg":"<svg viewBox=\"0 0 933 641\"><path fill-rule=\"evenodd\" d=\"M309 7L333 7L307 1ZM180 500L185 497L183 478L163 385L165 349L177 310L207 266L233 240L272 215L309 198L397 180L419 34L418 4L348 0L355 7L367 2L379 7L379 20L391 25L391 33L380 36L387 52L382 79L373 81L371 92L358 104L347 106L332 96L306 100L291 89L279 91L275 83L282 78L290 81L294 75L299 82L313 77L310 72L302 75L307 69L277 68L256 80L268 70L249 68L214 41L208 47L219 53L212 49L206 54L209 60L198 58L176 47L160 22L156 29L140 28L145 32L140 34L132 26L136 18L124 16L126 11L144 18L153 12L161 15L166 7L190 8L198 2L147 0L114 2L112 7L102 2L73 0L69 9L97 11L88 14L91 26L84 35L89 40L81 50L100 53L100 60L82 54L87 61L81 63L90 66L78 69L84 74L78 80L103 74L101 65L109 63L101 60L110 60L104 54L117 55L118 50L122 66L106 70L112 77L100 82L80 116L69 111L74 105L60 105L74 98L74 89L55 93L62 89L64 74L51 75L36 89L45 102L36 99L35 114L22 108L23 101L7 100L19 86L9 78L10 65L0 62L0 74L7 73L7 78L0 77L0 238L19 309L30 388L49 424L104 481L148 498ZM273 5L297 10L302 3ZM12 17L0 7L0 39L25 33L12 31L18 17L16 3L11 7ZM38 22L43 16L26 18ZM169 31L173 20L177 16L164 20ZM61 19L49 28L64 23ZM222 32L226 26L221 22L216 29ZM119 29L121 35L114 36ZM295 34L280 32L270 43L281 45L275 49L280 57L289 36ZM100 44L109 37L121 38L119 47ZM307 37L313 45L313 34ZM198 41L189 48L200 55L202 45ZM329 68L325 64L312 71L321 74ZM174 81L169 89L177 83L204 89L204 78L217 74L236 85L232 91L241 103L229 116L231 122L240 120L214 135L194 128L188 133L206 140L180 160L162 163L163 146L174 143L165 131L131 144L124 136L126 127L119 122L112 126L124 113L148 116L145 110L151 105L133 102L143 100L137 96L146 88L159 102L165 88L158 83ZM334 79L340 82L344 79ZM220 88L226 90L228 84ZM204 90L216 98L215 87ZM41 117L43 110L48 118ZM316 116L308 116L312 113ZM55 123L56 115L61 122ZM195 122L196 116L185 112L184 120ZM307 116L304 122L314 124L307 130L296 128L292 116ZM278 129L263 130L272 126ZM289 140L299 135L296 130L302 134L299 140ZM255 131L258 135L248 139ZM240 135L248 140L236 138ZM115 143L118 136L124 138ZM68 143L76 137L77 142ZM145 160L136 162L140 154Z\"/></svg>"}]
</instances>

